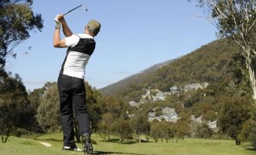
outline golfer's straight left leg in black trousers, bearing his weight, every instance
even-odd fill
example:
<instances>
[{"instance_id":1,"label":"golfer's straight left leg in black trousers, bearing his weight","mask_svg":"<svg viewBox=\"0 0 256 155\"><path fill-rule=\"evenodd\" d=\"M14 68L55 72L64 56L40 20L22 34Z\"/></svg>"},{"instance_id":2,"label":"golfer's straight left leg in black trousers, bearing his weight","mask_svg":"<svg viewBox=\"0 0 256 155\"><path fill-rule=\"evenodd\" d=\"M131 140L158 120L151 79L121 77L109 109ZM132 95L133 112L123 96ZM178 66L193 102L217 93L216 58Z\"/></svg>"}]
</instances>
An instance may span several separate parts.
<instances>
[{"instance_id":1,"label":"golfer's straight left leg in black trousers, bearing his weight","mask_svg":"<svg viewBox=\"0 0 256 155\"><path fill-rule=\"evenodd\" d=\"M72 77L60 74L58 78L60 96L60 123L63 129L63 148L76 146L72 126Z\"/></svg>"}]
</instances>

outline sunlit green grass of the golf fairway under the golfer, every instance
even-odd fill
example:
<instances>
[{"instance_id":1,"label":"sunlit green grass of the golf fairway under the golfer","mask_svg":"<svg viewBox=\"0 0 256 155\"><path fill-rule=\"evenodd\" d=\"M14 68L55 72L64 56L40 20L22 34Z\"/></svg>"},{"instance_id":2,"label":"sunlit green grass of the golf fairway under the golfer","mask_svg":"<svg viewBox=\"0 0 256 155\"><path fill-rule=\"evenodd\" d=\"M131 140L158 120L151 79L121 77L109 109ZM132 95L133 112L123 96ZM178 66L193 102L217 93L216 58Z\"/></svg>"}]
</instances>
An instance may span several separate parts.
<instances>
[{"instance_id":1,"label":"sunlit green grass of the golf fairway under the golfer","mask_svg":"<svg viewBox=\"0 0 256 155\"><path fill-rule=\"evenodd\" d=\"M236 146L234 141L228 140L208 140L187 138L179 140L177 143L174 140L166 142L147 142L147 143L131 143L120 144L116 142L102 141L98 135L93 135L92 138L97 141L94 144L95 154L139 154L139 155L255 155L256 151L252 147L243 144ZM54 133L42 135L34 139L10 137L6 144L0 143L0 154L2 155L64 155L64 154L80 154L73 151L63 151L62 134ZM52 141L54 140L54 141ZM39 142L47 142L52 147L45 147ZM77 144L81 148L81 144Z\"/></svg>"}]
</instances>

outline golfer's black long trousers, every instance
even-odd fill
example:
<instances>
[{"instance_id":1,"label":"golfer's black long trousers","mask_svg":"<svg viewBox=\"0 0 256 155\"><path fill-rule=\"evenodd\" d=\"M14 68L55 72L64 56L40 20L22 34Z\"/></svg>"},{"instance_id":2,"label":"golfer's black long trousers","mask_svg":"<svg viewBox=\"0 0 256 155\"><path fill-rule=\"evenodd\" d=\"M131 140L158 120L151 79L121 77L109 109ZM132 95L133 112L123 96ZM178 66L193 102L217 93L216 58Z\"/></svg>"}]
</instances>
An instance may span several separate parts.
<instances>
[{"instance_id":1,"label":"golfer's black long trousers","mask_svg":"<svg viewBox=\"0 0 256 155\"><path fill-rule=\"evenodd\" d=\"M64 146L74 146L73 111L79 121L80 134L90 135L89 117L86 111L84 79L60 74L57 86L60 95L60 123Z\"/></svg>"}]
</instances>

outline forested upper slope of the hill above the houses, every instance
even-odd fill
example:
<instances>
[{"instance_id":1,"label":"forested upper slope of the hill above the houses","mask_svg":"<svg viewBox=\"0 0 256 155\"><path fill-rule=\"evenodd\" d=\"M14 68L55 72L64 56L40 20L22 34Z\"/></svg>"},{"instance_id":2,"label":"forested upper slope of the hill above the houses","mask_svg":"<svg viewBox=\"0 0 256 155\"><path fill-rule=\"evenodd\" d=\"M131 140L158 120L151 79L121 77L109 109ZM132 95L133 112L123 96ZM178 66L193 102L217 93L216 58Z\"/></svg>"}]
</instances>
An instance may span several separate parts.
<instances>
[{"instance_id":1,"label":"forested upper slope of the hill above the houses","mask_svg":"<svg viewBox=\"0 0 256 155\"><path fill-rule=\"evenodd\" d=\"M239 48L227 39L213 41L178 59L150 67L104 87L100 92L136 101L145 93L143 88L147 87L168 91L174 85L222 81L229 75L229 62L238 51Z\"/></svg>"}]
</instances>

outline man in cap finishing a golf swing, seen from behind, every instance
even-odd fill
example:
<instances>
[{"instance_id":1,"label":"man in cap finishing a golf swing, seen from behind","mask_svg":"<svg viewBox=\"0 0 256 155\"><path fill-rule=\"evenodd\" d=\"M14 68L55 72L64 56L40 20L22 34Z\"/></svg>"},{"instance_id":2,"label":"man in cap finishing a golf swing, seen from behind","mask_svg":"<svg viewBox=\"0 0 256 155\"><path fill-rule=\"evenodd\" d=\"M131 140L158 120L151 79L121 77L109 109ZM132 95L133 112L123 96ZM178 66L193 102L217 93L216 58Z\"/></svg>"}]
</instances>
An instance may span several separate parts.
<instances>
[{"instance_id":1,"label":"man in cap finishing a golf swing, seen from behind","mask_svg":"<svg viewBox=\"0 0 256 155\"><path fill-rule=\"evenodd\" d=\"M94 36L100 23L91 20L84 34L73 35L62 14L55 18L54 47L68 47L57 81L60 95L60 123L63 129L63 150L82 151L76 147L72 126L73 111L79 122L85 153L93 153L91 132L85 100L85 65L94 52ZM66 38L60 39L60 25Z\"/></svg>"}]
</instances>

